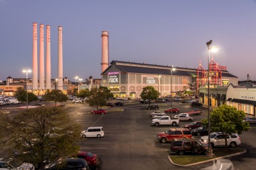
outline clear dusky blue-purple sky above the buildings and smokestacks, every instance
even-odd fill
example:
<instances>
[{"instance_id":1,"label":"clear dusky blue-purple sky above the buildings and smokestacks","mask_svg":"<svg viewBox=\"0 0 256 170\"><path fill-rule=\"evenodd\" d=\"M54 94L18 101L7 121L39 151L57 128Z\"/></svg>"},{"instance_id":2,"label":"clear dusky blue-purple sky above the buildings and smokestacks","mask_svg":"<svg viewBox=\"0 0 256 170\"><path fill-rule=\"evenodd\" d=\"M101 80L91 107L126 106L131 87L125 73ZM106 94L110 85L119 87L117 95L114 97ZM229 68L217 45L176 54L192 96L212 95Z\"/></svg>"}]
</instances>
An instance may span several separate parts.
<instances>
[{"instance_id":1,"label":"clear dusky blue-purple sky above the buildings and smokestacks","mask_svg":"<svg viewBox=\"0 0 256 170\"><path fill-rule=\"evenodd\" d=\"M71 81L101 78L102 31L109 31L109 62L197 68L201 61L207 69L212 40L215 62L239 80L256 80L255 17L255 0L0 0L0 80L26 78L22 69L32 69L33 22L38 31L51 25L52 78L61 25L63 76Z\"/></svg>"}]
</instances>

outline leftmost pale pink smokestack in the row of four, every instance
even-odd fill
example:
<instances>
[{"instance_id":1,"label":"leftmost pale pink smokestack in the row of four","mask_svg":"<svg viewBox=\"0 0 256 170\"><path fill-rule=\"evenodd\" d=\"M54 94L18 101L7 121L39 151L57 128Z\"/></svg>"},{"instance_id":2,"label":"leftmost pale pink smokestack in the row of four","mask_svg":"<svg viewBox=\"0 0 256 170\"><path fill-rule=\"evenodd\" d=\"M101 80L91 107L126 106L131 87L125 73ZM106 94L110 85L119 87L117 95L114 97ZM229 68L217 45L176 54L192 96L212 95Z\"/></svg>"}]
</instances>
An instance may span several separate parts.
<instances>
[{"instance_id":1,"label":"leftmost pale pink smokestack in the row of four","mask_svg":"<svg viewBox=\"0 0 256 170\"><path fill-rule=\"evenodd\" d=\"M33 41L32 41L32 89L38 89L37 72L37 23L33 22Z\"/></svg>"}]
</instances>

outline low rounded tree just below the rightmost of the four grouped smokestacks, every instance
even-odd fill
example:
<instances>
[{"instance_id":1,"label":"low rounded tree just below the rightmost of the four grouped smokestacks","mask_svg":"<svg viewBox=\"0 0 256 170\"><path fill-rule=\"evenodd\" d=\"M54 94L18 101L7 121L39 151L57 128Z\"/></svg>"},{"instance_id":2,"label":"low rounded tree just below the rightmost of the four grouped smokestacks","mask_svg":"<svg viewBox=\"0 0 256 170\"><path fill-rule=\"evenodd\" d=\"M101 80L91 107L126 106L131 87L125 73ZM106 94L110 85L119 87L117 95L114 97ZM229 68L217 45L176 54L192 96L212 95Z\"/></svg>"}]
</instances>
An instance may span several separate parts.
<instances>
[{"instance_id":1,"label":"low rounded tree just below the rightmost of the four grouped smokestacks","mask_svg":"<svg viewBox=\"0 0 256 170\"><path fill-rule=\"evenodd\" d=\"M68 100L67 95L63 94L61 90L47 90L44 95L45 101L54 101L55 106L57 102L65 102Z\"/></svg>"}]
</instances>

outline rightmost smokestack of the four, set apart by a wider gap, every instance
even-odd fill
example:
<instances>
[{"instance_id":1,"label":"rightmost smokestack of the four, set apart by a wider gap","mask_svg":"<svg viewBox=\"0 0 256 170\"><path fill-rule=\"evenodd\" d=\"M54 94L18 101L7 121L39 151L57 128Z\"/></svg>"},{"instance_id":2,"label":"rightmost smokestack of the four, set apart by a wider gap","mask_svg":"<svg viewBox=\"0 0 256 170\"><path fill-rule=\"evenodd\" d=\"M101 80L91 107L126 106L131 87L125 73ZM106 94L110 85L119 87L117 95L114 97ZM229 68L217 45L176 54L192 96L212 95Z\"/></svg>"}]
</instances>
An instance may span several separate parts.
<instances>
[{"instance_id":1,"label":"rightmost smokestack of the four, set apart by a wider gap","mask_svg":"<svg viewBox=\"0 0 256 170\"><path fill-rule=\"evenodd\" d=\"M63 90L62 27L58 27L58 90Z\"/></svg>"}]
</instances>

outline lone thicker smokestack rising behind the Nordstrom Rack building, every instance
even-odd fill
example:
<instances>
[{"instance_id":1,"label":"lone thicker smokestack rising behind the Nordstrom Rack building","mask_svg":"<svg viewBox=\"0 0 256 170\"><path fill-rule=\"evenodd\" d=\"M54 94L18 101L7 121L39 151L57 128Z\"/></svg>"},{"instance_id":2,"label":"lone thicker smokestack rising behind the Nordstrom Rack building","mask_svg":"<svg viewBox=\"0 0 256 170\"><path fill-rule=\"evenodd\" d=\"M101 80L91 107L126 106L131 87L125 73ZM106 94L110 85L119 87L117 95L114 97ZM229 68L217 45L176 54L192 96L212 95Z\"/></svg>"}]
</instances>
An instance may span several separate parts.
<instances>
[{"instance_id":1,"label":"lone thicker smokestack rising behind the Nordstrom Rack building","mask_svg":"<svg viewBox=\"0 0 256 170\"><path fill-rule=\"evenodd\" d=\"M109 64L109 46L108 46L108 31L102 31L101 34L102 46L101 46L101 73L108 68Z\"/></svg>"}]
</instances>

